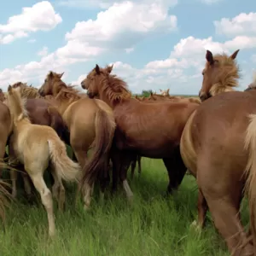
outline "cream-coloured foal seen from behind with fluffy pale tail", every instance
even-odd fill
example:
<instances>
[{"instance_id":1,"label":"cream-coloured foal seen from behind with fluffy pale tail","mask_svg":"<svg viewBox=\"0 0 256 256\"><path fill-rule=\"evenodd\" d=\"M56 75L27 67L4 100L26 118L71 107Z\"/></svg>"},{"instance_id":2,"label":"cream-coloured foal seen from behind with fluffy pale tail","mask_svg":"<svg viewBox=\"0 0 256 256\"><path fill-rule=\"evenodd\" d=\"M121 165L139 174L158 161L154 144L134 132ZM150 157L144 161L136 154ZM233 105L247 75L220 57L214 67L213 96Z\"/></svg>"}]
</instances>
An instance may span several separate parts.
<instances>
[{"instance_id":1,"label":"cream-coloured foal seen from behind with fluffy pale tail","mask_svg":"<svg viewBox=\"0 0 256 256\"><path fill-rule=\"evenodd\" d=\"M65 189L61 179L76 181L79 178L80 166L67 156L65 143L55 130L46 125L31 123L19 90L20 88L14 89L10 85L8 87L7 104L14 121L13 136L9 142L9 158L17 159L25 166L47 212L49 236L54 236L53 201L51 192L44 182L44 171L50 163L55 179L53 195L62 208L65 202Z\"/></svg>"}]
</instances>

